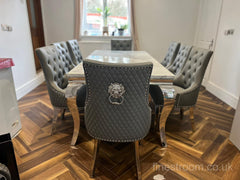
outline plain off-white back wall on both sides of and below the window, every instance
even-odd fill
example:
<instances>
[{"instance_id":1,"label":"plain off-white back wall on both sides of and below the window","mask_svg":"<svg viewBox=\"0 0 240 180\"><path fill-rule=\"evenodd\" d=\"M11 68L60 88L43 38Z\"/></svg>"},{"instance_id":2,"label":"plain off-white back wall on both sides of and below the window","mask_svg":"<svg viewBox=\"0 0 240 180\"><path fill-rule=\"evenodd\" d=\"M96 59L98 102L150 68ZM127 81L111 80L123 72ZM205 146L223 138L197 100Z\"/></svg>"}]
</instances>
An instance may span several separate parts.
<instances>
[{"instance_id":1,"label":"plain off-white back wall on both sides of and below the window","mask_svg":"<svg viewBox=\"0 0 240 180\"><path fill-rule=\"evenodd\" d=\"M135 0L135 4L140 50L162 61L172 41L193 44L199 0ZM74 0L42 0L42 12L46 44L73 38ZM110 47L109 39L102 45L95 41L95 45L93 39L80 42L84 57L96 48Z\"/></svg>"}]
</instances>

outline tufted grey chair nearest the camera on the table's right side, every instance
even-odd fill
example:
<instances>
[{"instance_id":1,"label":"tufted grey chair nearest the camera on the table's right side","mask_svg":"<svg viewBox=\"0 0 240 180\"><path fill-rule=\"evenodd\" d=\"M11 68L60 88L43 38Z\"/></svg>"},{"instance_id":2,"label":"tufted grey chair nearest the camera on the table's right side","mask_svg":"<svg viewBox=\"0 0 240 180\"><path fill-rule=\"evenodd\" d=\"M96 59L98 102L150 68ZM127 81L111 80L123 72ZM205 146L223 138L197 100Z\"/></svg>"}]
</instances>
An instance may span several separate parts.
<instances>
[{"instance_id":1,"label":"tufted grey chair nearest the camera on the table's right side","mask_svg":"<svg viewBox=\"0 0 240 180\"><path fill-rule=\"evenodd\" d=\"M212 51L206 49L193 47L187 62L181 72L175 76L173 86L171 86L176 92L175 107L181 109L181 114L183 114L183 108L190 108L193 130L194 105L197 102L201 83L212 53ZM164 86L151 85L149 89L156 106L162 106L164 102L161 88L164 88Z\"/></svg>"}]
</instances>

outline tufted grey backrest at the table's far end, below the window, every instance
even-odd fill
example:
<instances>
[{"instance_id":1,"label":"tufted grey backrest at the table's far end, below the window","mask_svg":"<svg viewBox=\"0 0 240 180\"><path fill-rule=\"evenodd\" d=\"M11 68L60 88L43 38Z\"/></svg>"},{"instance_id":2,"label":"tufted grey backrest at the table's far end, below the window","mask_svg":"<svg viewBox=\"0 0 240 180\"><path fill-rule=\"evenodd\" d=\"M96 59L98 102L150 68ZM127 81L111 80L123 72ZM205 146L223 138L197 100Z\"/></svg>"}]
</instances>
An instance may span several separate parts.
<instances>
[{"instance_id":1,"label":"tufted grey backrest at the table's far end, below the window","mask_svg":"<svg viewBox=\"0 0 240 180\"><path fill-rule=\"evenodd\" d=\"M111 50L114 51L131 51L132 40L131 39L112 39Z\"/></svg>"}]
</instances>

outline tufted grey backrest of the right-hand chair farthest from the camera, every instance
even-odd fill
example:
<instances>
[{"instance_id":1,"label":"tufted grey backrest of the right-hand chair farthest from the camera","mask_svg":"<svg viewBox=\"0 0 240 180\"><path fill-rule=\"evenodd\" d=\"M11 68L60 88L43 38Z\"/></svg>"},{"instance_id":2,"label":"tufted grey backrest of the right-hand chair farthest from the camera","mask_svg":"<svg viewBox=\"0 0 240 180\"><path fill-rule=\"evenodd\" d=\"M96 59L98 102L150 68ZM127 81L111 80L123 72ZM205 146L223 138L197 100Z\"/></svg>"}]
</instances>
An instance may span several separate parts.
<instances>
[{"instance_id":1,"label":"tufted grey backrest of the right-hand chair farthest from the camera","mask_svg":"<svg viewBox=\"0 0 240 180\"><path fill-rule=\"evenodd\" d=\"M165 67L168 67L172 64L173 60L177 56L178 50L180 47L180 43L172 42L168 48L167 55L161 62L161 64Z\"/></svg>"}]
</instances>

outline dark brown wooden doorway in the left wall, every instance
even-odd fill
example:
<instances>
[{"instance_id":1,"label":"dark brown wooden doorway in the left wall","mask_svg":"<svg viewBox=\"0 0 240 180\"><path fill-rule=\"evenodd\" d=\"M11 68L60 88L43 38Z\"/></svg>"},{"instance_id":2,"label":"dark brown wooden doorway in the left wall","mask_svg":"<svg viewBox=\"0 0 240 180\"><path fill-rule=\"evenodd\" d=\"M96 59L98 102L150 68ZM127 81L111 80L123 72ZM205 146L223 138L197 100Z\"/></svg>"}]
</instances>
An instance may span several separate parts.
<instances>
[{"instance_id":1,"label":"dark brown wooden doorway in the left wall","mask_svg":"<svg viewBox=\"0 0 240 180\"><path fill-rule=\"evenodd\" d=\"M36 70L41 69L40 62L36 55L35 49L45 46L41 0L27 0L28 18L31 29L33 53Z\"/></svg>"}]
</instances>

